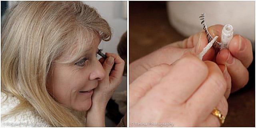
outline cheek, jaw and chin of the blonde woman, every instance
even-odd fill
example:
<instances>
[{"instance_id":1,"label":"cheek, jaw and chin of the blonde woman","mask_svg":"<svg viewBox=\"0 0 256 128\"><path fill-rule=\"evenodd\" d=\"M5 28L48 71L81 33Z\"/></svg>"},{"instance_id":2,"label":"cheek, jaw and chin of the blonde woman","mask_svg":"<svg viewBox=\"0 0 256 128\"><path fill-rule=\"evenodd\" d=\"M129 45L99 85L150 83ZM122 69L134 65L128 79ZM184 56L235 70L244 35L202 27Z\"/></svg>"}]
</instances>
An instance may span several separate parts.
<instances>
[{"instance_id":1,"label":"cheek, jaw and chin of the blonde woman","mask_svg":"<svg viewBox=\"0 0 256 128\"><path fill-rule=\"evenodd\" d=\"M48 86L49 92L57 102L70 108L76 110L90 108L91 98L83 98L79 94L79 91L90 83L88 77L89 75L82 70L67 72L63 68L55 68Z\"/></svg>"}]
</instances>

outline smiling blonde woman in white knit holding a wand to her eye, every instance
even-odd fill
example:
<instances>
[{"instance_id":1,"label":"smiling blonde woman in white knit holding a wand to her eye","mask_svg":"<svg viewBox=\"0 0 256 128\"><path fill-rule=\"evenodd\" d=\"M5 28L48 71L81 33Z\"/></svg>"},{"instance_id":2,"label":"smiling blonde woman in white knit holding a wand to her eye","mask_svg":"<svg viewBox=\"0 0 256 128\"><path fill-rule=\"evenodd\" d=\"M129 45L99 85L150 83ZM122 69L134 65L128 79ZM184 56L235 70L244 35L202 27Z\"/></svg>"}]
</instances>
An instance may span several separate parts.
<instances>
[{"instance_id":1,"label":"smiling blonde woman in white knit holding a wand to her eye","mask_svg":"<svg viewBox=\"0 0 256 128\"><path fill-rule=\"evenodd\" d=\"M124 61L110 53L96 58L111 30L94 8L17 2L2 26L2 126L104 126Z\"/></svg>"}]
</instances>

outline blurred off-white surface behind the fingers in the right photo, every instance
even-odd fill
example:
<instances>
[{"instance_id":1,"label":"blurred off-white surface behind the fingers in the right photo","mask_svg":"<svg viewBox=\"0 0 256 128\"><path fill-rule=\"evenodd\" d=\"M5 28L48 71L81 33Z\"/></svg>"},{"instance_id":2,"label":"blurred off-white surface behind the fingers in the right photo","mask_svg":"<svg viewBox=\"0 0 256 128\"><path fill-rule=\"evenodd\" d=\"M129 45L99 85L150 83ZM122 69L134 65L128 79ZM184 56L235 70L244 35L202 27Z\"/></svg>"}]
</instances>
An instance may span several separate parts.
<instances>
[{"instance_id":1,"label":"blurred off-white surface behind the fingers in the right photo","mask_svg":"<svg viewBox=\"0 0 256 128\"><path fill-rule=\"evenodd\" d=\"M168 1L167 8L170 23L184 36L202 30L198 17L205 12L208 27L231 24L255 48L255 1Z\"/></svg>"}]
</instances>

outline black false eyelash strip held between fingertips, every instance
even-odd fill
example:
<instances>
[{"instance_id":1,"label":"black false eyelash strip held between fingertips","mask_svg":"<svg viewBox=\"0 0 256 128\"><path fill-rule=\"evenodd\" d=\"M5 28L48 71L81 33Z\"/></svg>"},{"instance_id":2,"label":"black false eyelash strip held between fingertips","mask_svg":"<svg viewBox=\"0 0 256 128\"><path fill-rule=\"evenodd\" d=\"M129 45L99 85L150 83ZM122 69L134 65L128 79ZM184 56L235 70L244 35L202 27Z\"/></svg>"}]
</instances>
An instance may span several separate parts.
<instances>
[{"instance_id":1,"label":"black false eyelash strip held between fingertips","mask_svg":"<svg viewBox=\"0 0 256 128\"><path fill-rule=\"evenodd\" d=\"M206 33L206 37L208 40L208 43L210 43L213 40L213 37L210 35L210 33L208 32L207 26L206 26L206 22L205 22L205 13L201 14L201 16L199 16L200 20L202 20L201 24L203 25L204 31ZM212 45L212 47L215 49L215 53L218 53L220 51L221 48L221 43L218 41L215 41Z\"/></svg>"}]
</instances>

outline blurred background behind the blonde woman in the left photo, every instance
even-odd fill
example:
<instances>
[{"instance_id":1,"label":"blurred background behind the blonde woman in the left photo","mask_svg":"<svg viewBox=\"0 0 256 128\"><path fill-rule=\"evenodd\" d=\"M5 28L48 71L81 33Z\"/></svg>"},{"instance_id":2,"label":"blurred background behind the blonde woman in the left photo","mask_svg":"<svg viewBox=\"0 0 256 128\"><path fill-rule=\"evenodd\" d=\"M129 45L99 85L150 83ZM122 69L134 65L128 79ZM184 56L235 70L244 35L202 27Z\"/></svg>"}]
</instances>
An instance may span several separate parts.
<instances>
[{"instance_id":1,"label":"blurred background behind the blonde woman in the left photo","mask_svg":"<svg viewBox=\"0 0 256 128\"><path fill-rule=\"evenodd\" d=\"M15 1L1 1L1 22L8 6ZM112 28L112 39L109 42L102 41L98 48L103 53L118 54L118 44L122 35L127 31L127 2L126 1L83 1L85 4L96 8ZM127 38L127 37L126 37ZM123 42L127 48L127 41ZM127 51L127 50L126 50ZM127 56L127 54L126 54ZM125 69L126 70L126 69ZM124 74L122 83L114 92L106 109L106 126L116 126L127 111L127 76Z\"/></svg>"}]
</instances>

